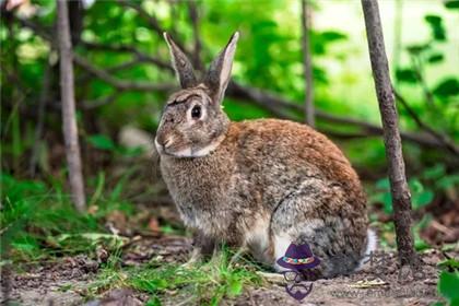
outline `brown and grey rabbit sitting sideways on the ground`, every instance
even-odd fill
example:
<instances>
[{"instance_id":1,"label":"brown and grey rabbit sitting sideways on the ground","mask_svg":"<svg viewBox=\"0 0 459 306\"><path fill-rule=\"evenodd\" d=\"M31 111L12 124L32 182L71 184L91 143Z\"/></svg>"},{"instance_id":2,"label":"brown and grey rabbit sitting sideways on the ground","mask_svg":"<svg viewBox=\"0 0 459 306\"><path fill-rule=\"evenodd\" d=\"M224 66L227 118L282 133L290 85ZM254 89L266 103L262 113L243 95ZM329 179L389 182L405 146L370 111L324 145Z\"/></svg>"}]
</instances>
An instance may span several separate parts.
<instances>
[{"instance_id":1,"label":"brown and grey rabbit sitting sideways on the ground","mask_svg":"<svg viewBox=\"0 0 459 306\"><path fill-rule=\"evenodd\" d=\"M228 119L222 102L238 37L198 79L164 33L181 90L167 101L154 142L162 177L195 233L191 258L224 242L282 272L276 260L306 243L321 261L311 275L351 273L376 248L361 181L338 146L306 125Z\"/></svg>"}]
</instances>

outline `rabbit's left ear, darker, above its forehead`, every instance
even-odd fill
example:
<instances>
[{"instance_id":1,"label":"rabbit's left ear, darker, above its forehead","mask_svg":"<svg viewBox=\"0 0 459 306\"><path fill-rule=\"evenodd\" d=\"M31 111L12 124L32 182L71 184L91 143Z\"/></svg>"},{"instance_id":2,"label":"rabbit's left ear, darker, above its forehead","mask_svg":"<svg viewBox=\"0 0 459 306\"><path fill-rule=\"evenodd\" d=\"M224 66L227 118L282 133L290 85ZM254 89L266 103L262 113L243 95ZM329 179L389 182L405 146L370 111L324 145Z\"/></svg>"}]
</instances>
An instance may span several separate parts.
<instances>
[{"instance_id":1,"label":"rabbit's left ear, darker, above its forehead","mask_svg":"<svg viewBox=\"0 0 459 306\"><path fill-rule=\"evenodd\" d=\"M166 39L167 46L169 47L172 63L177 75L180 86L183 89L189 89L198 84L192 69L191 62L183 50L174 43L170 36L164 32L164 39Z\"/></svg>"}]
</instances>

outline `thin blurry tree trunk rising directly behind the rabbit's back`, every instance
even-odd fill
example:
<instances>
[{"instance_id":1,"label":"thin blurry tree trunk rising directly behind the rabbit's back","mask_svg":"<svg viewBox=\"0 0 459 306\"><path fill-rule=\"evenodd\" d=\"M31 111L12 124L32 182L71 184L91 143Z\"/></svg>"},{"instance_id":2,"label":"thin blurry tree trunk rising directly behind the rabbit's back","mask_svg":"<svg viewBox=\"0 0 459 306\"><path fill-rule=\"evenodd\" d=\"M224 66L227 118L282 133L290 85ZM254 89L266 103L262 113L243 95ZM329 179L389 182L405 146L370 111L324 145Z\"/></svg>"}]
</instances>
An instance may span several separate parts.
<instances>
[{"instance_id":1,"label":"thin blurry tree trunk rising directly behind the rabbit's back","mask_svg":"<svg viewBox=\"0 0 459 306\"><path fill-rule=\"evenodd\" d=\"M310 4L308 0L302 0L302 48L303 48L303 67L305 73L305 118L306 123L310 127L315 126L315 111L314 111L314 79L313 79L313 64L310 59Z\"/></svg>"}]
</instances>

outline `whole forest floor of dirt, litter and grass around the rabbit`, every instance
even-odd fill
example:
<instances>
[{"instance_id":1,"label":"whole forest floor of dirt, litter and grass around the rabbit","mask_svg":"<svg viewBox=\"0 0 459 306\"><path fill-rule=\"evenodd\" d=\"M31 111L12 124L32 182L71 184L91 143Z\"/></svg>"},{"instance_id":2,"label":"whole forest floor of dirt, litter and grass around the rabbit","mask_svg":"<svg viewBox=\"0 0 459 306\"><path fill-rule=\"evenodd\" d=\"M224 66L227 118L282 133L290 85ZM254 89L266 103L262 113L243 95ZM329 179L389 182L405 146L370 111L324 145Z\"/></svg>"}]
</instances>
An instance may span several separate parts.
<instances>
[{"instance_id":1,"label":"whole forest floor of dirt, litter and grass around the rabbit","mask_svg":"<svg viewBox=\"0 0 459 306\"><path fill-rule=\"evenodd\" d=\"M444 296L459 301L457 201L436 203L433 207L444 208L437 211L416 211L421 220L414 226L416 249L424 263L414 275L398 268L393 224L380 207L370 205L381 250L357 273L315 281L310 294L297 302L281 274L249 256L236 257L235 250L224 248L211 260L184 267L191 242L174 204L158 191L163 187L146 192L148 180L133 184L133 174L122 174L115 183L99 176L85 214L76 213L69 198L56 191L59 188L51 192L42 184L3 177L9 199L1 214L0 304L446 305ZM104 184L114 187L103 191ZM433 217L421 231L423 215ZM456 272L442 291L444 270Z\"/></svg>"}]
</instances>

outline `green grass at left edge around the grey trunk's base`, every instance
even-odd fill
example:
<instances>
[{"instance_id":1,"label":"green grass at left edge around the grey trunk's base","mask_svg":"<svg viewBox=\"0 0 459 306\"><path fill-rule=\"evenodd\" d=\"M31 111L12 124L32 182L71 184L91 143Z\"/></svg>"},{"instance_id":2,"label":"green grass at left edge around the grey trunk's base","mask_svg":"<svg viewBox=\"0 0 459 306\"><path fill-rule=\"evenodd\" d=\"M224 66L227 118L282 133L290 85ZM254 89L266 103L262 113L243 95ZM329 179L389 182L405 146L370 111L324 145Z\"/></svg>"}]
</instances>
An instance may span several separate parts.
<instances>
[{"instance_id":1,"label":"green grass at left edge around the grey trunk's base","mask_svg":"<svg viewBox=\"0 0 459 306\"><path fill-rule=\"evenodd\" d=\"M99 209L94 214L81 214L59 185L50 189L42 181L16 180L5 174L0 179L2 257L35 261L91 252L97 246L107 249L120 246L121 238L107 234L101 221L113 210L127 211L127 203L119 199L120 190L117 191L121 183L108 201L103 199L101 190L96 191L94 195L98 196L93 197L92 202Z\"/></svg>"}]
</instances>

